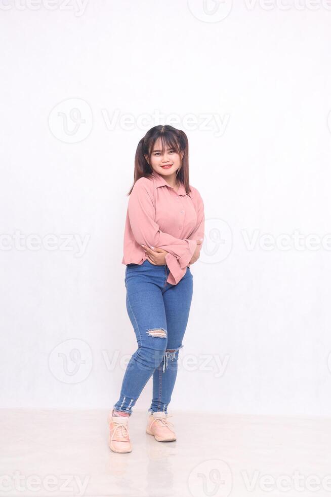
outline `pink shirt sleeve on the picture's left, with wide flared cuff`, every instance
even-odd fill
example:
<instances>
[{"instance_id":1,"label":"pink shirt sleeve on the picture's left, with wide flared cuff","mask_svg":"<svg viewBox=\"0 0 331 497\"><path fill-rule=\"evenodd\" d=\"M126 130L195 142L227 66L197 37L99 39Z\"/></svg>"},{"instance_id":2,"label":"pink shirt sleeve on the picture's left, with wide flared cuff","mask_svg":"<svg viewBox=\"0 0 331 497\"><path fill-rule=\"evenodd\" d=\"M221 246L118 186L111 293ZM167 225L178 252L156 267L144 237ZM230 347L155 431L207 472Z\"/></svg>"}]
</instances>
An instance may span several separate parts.
<instances>
[{"instance_id":1,"label":"pink shirt sleeve on the picture's left, with wide flared cuff","mask_svg":"<svg viewBox=\"0 0 331 497\"><path fill-rule=\"evenodd\" d=\"M129 197L128 213L133 236L137 243L163 248L167 251L167 265L172 274L169 282L177 285L186 272L196 248L196 238L176 238L160 230L155 222L155 202L149 180L137 181Z\"/></svg>"}]
</instances>

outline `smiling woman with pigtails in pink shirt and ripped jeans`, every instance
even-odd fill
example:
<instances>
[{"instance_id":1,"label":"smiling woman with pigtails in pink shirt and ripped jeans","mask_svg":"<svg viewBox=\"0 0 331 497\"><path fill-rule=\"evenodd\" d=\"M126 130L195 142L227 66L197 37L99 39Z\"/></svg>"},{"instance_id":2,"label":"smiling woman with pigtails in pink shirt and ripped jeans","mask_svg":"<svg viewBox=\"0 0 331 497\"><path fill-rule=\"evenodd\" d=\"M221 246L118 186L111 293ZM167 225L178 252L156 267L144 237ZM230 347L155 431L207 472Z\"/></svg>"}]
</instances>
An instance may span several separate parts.
<instances>
[{"instance_id":1,"label":"smiling woman with pigtails in pink shirt and ripped jeans","mask_svg":"<svg viewBox=\"0 0 331 497\"><path fill-rule=\"evenodd\" d=\"M193 293L190 265L204 236L202 198L189 185L188 140L172 126L151 128L138 144L122 264L127 310L138 349L109 416L109 447L131 452L128 419L153 376L146 432L159 442L176 440L168 405L177 375Z\"/></svg>"}]
</instances>

